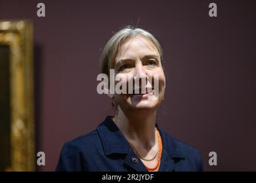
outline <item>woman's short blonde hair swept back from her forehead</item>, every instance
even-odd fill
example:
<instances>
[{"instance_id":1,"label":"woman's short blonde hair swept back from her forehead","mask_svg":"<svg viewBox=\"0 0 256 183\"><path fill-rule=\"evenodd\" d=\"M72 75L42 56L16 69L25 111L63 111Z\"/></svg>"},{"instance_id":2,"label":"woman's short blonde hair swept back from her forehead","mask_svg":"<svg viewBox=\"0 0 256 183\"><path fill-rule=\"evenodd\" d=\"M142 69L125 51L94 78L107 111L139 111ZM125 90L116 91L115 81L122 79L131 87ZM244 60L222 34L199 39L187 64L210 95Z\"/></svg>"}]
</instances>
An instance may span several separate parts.
<instances>
[{"instance_id":1,"label":"woman's short blonde hair swept back from her forehead","mask_svg":"<svg viewBox=\"0 0 256 183\"><path fill-rule=\"evenodd\" d=\"M153 46L156 47L157 51L159 52L161 63L163 66L163 50L156 38L144 29L129 25L117 31L117 33L115 33L105 45L100 58L101 73L109 75L109 69L113 69L115 67L115 59L120 51L120 47L125 41L128 41L128 39L131 38L135 38L137 35L140 35L141 37L147 39L153 44Z\"/></svg>"}]
</instances>

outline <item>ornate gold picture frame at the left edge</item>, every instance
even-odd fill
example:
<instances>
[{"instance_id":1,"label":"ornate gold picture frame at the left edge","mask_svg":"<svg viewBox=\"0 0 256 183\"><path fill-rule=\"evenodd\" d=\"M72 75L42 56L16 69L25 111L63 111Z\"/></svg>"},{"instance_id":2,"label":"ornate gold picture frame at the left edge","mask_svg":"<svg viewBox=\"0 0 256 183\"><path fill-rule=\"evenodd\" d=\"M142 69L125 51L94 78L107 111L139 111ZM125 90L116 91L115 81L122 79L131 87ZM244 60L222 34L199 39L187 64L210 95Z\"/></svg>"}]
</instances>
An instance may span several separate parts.
<instances>
[{"instance_id":1,"label":"ornate gold picture frame at the left edge","mask_svg":"<svg viewBox=\"0 0 256 183\"><path fill-rule=\"evenodd\" d=\"M5 171L34 171L32 23L0 21L0 45L9 49L10 166Z\"/></svg>"}]
</instances>

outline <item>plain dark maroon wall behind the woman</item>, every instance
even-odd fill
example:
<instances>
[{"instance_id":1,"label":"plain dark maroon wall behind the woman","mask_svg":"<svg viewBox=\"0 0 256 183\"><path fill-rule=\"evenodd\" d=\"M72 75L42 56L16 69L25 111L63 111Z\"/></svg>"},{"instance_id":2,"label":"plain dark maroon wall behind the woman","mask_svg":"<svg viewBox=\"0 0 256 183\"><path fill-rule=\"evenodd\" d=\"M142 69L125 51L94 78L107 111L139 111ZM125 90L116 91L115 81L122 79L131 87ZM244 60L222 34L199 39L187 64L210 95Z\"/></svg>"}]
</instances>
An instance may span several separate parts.
<instances>
[{"instance_id":1,"label":"plain dark maroon wall behind the woman","mask_svg":"<svg viewBox=\"0 0 256 183\"><path fill-rule=\"evenodd\" d=\"M37 17L37 3L46 17ZM218 5L218 17L208 5ZM96 92L100 49L119 27L151 31L164 50L166 97L157 117L199 149L206 170L256 170L256 1L1 1L0 19L34 23L37 151L54 170L64 142L113 114ZM208 153L218 165L208 165Z\"/></svg>"}]
</instances>

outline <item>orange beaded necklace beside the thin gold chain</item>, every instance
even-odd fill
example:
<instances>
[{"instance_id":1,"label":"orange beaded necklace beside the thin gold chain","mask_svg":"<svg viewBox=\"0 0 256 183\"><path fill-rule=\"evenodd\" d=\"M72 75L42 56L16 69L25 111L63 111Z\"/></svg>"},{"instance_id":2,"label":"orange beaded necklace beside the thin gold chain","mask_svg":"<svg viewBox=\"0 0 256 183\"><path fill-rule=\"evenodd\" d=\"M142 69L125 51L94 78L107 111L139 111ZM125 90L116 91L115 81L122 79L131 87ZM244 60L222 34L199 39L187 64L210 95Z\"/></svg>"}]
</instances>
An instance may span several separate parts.
<instances>
[{"instance_id":1,"label":"orange beaded necklace beside the thin gold chain","mask_svg":"<svg viewBox=\"0 0 256 183\"><path fill-rule=\"evenodd\" d=\"M147 165L144 165L147 170L149 171L153 171L155 170L156 172L159 170L159 167L160 167L160 161L161 161L161 157L162 157L162 150L163 150L163 145L162 145L162 139L161 139L161 136L160 136L160 133L159 131L156 129L156 132L157 132L157 144L159 145L158 147L158 156L157 156L157 161L156 161L156 165L153 167L153 168L149 168ZM133 144L131 142L129 142L129 145L132 147L132 149L134 150L134 152L137 154L137 156L140 157L140 159L143 159L139 153L137 153L137 150L135 149L135 146L133 146Z\"/></svg>"}]
</instances>

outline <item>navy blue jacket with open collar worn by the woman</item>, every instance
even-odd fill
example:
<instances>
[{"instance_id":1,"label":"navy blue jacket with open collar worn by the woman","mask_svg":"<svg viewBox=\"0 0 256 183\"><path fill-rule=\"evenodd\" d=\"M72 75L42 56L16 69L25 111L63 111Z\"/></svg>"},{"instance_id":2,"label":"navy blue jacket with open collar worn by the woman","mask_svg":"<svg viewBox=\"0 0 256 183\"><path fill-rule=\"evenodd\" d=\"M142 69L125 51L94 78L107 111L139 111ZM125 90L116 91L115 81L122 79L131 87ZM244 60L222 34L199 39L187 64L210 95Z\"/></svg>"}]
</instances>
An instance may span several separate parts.
<instances>
[{"instance_id":1,"label":"navy blue jacket with open collar worn by the woman","mask_svg":"<svg viewBox=\"0 0 256 183\"><path fill-rule=\"evenodd\" d=\"M156 124L163 151L159 171L202 171L198 150L175 140ZM108 116L96 130L66 142L56 171L144 171L143 162Z\"/></svg>"}]
</instances>

